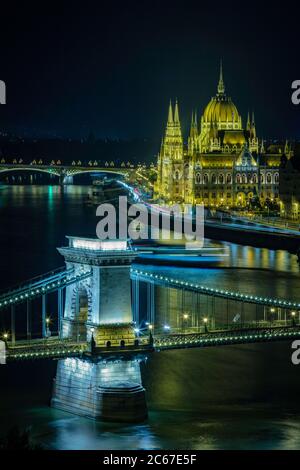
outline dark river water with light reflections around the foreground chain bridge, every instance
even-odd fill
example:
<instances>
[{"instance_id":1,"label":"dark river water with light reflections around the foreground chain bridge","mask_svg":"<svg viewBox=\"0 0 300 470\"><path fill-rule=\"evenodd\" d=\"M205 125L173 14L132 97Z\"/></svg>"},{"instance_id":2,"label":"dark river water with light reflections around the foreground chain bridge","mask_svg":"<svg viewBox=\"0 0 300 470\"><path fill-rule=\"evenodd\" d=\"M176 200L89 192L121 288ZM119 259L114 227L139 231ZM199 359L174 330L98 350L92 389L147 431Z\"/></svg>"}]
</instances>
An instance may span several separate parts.
<instances>
[{"instance_id":1,"label":"dark river water with light reflections around the foreground chain bridge","mask_svg":"<svg viewBox=\"0 0 300 470\"><path fill-rule=\"evenodd\" d=\"M56 247L66 243L65 235L95 236L87 191L0 186L0 289L61 266ZM147 269L168 276L176 269L184 279L299 300L295 256L223 245L229 256L221 269ZM149 419L139 425L94 422L49 408L55 361L0 366L0 435L13 424L30 427L50 449L300 448L300 366L290 356L289 342L155 354L142 366Z\"/></svg>"}]
</instances>

